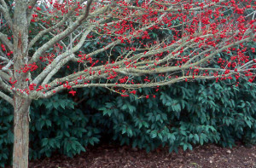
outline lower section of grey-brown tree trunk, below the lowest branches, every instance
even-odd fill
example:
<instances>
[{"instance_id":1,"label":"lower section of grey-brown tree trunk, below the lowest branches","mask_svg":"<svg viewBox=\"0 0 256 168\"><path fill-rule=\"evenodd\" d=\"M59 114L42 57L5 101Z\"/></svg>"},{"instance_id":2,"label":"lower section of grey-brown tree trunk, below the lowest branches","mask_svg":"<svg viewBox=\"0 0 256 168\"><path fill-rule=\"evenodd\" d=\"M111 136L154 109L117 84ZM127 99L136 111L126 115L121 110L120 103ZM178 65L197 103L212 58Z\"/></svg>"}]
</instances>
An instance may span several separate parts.
<instances>
[{"instance_id":1,"label":"lower section of grey-brown tree trunk, below the lowest branches","mask_svg":"<svg viewBox=\"0 0 256 168\"><path fill-rule=\"evenodd\" d=\"M15 96L13 167L28 167L29 107L31 100Z\"/></svg>"}]
</instances>

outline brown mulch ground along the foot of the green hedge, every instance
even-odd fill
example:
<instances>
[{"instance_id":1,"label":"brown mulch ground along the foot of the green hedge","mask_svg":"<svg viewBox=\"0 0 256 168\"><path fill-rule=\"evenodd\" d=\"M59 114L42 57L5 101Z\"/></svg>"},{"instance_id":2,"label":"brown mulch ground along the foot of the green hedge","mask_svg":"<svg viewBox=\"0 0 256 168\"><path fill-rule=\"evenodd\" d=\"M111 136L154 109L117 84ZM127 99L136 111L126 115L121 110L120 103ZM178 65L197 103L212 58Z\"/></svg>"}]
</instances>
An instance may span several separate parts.
<instances>
[{"instance_id":1,"label":"brown mulch ground along the foot of the green hedge","mask_svg":"<svg viewBox=\"0 0 256 168\"><path fill-rule=\"evenodd\" d=\"M30 168L256 168L256 146L221 148L216 145L195 147L178 154L160 149L147 154L137 148L102 145L87 149L73 159L65 156L34 160Z\"/></svg>"}]
</instances>

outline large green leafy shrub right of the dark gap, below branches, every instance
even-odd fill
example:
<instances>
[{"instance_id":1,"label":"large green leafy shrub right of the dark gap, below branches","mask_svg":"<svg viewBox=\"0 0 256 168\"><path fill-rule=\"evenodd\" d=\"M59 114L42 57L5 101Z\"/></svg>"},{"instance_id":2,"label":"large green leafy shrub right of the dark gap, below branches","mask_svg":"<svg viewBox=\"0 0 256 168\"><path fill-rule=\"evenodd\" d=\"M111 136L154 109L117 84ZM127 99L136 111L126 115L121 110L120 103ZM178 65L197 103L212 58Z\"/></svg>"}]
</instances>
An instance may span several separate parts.
<instances>
[{"instance_id":1,"label":"large green leafy shrub right of the dark gap, below branches","mask_svg":"<svg viewBox=\"0 0 256 168\"><path fill-rule=\"evenodd\" d=\"M192 149L207 142L231 147L256 140L255 93L250 83L241 89L224 82L183 83L166 87L155 99L116 97L98 109L108 116L109 133L121 144L148 151L165 145L170 151Z\"/></svg>"}]
</instances>

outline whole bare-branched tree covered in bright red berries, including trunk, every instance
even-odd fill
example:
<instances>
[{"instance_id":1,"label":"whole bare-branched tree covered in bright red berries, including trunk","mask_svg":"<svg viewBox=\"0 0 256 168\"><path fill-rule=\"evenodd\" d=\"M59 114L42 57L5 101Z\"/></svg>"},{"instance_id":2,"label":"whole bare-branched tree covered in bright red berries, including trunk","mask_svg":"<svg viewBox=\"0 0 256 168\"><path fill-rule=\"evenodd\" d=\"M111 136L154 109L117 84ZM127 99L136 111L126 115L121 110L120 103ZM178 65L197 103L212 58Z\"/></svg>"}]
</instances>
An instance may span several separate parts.
<instances>
[{"instance_id":1,"label":"whole bare-branched tree covered in bright red berries, including trunk","mask_svg":"<svg viewBox=\"0 0 256 168\"><path fill-rule=\"evenodd\" d=\"M255 9L252 0L0 0L0 97L15 109L13 166L28 167L32 100L86 87L135 96L195 79L253 82Z\"/></svg>"}]
</instances>

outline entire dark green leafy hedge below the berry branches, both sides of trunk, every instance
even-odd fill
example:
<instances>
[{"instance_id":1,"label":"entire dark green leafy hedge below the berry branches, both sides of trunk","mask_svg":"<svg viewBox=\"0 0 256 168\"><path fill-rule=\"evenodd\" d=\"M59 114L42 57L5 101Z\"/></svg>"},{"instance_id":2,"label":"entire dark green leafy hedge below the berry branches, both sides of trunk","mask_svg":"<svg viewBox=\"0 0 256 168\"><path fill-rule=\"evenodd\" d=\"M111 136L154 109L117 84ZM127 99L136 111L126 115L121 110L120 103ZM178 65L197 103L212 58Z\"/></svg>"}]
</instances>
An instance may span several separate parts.
<instances>
[{"instance_id":1,"label":"entire dark green leafy hedge below the berry branches, both sides of trunk","mask_svg":"<svg viewBox=\"0 0 256 168\"><path fill-rule=\"evenodd\" d=\"M138 90L122 97L109 90L84 89L33 101L30 158L57 152L73 156L88 145L116 140L147 151L168 146L170 151L194 144L256 141L256 87L219 83L179 83ZM155 98L153 96L156 96ZM0 165L11 158L12 108L0 100ZM102 138L101 138L102 137ZM110 137L105 139L105 137Z\"/></svg>"}]
</instances>

